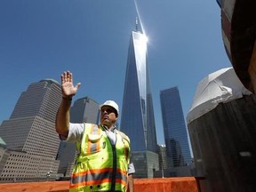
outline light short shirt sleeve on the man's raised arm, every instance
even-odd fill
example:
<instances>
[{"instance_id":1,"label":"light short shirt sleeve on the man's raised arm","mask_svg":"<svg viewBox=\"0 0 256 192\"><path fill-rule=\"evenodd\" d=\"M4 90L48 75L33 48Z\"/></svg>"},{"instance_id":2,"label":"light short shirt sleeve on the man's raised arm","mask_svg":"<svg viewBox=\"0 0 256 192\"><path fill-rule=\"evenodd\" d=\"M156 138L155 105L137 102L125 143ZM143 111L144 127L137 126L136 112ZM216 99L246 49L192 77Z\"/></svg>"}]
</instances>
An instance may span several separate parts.
<instances>
[{"instance_id":1,"label":"light short shirt sleeve on the man's raised arm","mask_svg":"<svg viewBox=\"0 0 256 192\"><path fill-rule=\"evenodd\" d=\"M72 124L69 123L68 137L60 135L60 140L67 142L80 142L84 133L84 124Z\"/></svg>"}]
</instances>

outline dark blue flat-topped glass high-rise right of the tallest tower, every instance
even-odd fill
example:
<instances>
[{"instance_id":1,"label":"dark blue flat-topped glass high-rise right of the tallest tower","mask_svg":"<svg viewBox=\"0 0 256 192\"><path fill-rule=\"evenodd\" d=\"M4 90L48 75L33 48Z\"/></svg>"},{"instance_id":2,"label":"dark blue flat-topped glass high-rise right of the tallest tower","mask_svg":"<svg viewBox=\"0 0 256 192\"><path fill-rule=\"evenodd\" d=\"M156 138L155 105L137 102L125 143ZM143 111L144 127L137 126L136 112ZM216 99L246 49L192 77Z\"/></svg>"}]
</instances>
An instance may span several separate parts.
<instances>
[{"instance_id":1,"label":"dark blue flat-topped glass high-rise right of the tallest tower","mask_svg":"<svg viewBox=\"0 0 256 192\"><path fill-rule=\"evenodd\" d=\"M160 91L160 100L168 167L190 164L192 157L178 87Z\"/></svg>"}]
</instances>

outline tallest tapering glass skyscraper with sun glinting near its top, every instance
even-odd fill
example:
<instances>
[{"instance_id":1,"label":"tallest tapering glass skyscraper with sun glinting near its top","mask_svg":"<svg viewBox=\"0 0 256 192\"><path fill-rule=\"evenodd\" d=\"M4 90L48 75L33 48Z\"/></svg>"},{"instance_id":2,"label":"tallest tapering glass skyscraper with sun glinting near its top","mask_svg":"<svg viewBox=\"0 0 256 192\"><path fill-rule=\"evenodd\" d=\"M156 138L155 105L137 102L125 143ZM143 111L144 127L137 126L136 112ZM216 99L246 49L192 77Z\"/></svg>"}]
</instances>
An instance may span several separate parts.
<instances>
[{"instance_id":1,"label":"tallest tapering glass skyscraper with sun glinting near its top","mask_svg":"<svg viewBox=\"0 0 256 192\"><path fill-rule=\"evenodd\" d=\"M121 130L131 140L134 177L153 177L159 169L156 125L149 85L147 64L147 37L132 31L121 118Z\"/></svg>"}]
</instances>

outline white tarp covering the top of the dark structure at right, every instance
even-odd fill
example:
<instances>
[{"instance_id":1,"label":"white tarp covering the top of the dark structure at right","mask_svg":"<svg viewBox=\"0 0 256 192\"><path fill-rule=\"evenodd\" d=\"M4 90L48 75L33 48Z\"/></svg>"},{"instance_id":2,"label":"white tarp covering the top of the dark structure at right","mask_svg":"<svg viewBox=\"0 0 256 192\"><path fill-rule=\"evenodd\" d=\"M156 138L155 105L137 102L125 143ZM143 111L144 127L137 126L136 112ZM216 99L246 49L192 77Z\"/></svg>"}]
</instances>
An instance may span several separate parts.
<instances>
[{"instance_id":1,"label":"white tarp covering the top of the dark structure at right","mask_svg":"<svg viewBox=\"0 0 256 192\"><path fill-rule=\"evenodd\" d=\"M219 103L228 102L250 95L236 76L234 68L222 68L208 76L198 84L196 94L187 116L188 124L203 116Z\"/></svg>"}]
</instances>

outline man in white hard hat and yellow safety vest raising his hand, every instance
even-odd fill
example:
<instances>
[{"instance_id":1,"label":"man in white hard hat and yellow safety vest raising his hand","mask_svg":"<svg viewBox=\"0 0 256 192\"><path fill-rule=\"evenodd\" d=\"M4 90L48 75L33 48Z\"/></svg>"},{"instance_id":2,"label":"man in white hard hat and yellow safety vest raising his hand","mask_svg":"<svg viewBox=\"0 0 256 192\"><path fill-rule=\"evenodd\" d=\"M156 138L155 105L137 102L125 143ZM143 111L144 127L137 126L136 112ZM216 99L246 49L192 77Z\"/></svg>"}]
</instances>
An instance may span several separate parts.
<instances>
[{"instance_id":1,"label":"man in white hard hat and yellow safety vest raising his hand","mask_svg":"<svg viewBox=\"0 0 256 192\"><path fill-rule=\"evenodd\" d=\"M61 75L62 101L56 116L56 132L61 140L76 142L76 164L69 191L133 192L130 140L116 130L118 105L107 100L100 105L100 124L69 123L71 100L80 86L74 86L69 71Z\"/></svg>"}]
</instances>

